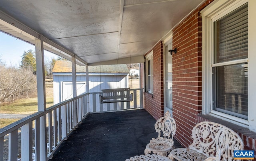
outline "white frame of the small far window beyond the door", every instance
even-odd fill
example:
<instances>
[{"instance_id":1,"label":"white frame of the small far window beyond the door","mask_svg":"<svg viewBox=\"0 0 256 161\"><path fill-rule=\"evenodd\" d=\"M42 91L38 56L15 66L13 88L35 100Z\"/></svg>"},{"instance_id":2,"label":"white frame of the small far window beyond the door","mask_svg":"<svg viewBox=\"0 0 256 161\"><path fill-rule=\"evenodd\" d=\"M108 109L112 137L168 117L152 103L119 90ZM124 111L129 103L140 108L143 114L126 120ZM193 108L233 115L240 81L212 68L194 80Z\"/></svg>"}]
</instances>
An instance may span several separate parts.
<instances>
[{"instance_id":1,"label":"white frame of the small far window beyond the door","mask_svg":"<svg viewBox=\"0 0 256 161\"><path fill-rule=\"evenodd\" d=\"M145 85L145 89L146 92L149 92L151 94L153 94L153 50L150 51L150 53L148 53L148 55L146 55L145 57L146 59L146 70L145 70L145 80L146 80L146 85ZM148 75L148 61L150 60L150 75ZM150 84L148 81L148 76L150 76ZM148 88L148 86L150 86L150 89Z\"/></svg>"}]
</instances>

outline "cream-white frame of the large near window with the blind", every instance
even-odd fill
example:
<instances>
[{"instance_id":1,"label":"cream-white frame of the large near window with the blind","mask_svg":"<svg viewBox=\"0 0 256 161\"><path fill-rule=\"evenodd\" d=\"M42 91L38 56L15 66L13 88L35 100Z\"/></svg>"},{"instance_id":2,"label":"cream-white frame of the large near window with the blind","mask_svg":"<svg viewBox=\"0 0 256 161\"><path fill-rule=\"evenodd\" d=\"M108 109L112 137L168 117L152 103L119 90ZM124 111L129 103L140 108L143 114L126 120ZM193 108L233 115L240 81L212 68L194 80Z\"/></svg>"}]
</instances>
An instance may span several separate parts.
<instances>
[{"instance_id":1,"label":"cream-white frame of the large near window with the blind","mask_svg":"<svg viewBox=\"0 0 256 161\"><path fill-rule=\"evenodd\" d=\"M241 62L248 62L248 120L245 120L213 110L212 67L216 66L216 64L213 65L213 22L247 2L249 35L248 59L238 60ZM214 0L200 13L202 16L202 114L210 114L256 132L256 30L254 29L256 26L256 22L254 22L254 15L256 15L256 11L254 8L256 8L255 0ZM238 61L231 63L238 63Z\"/></svg>"}]
</instances>

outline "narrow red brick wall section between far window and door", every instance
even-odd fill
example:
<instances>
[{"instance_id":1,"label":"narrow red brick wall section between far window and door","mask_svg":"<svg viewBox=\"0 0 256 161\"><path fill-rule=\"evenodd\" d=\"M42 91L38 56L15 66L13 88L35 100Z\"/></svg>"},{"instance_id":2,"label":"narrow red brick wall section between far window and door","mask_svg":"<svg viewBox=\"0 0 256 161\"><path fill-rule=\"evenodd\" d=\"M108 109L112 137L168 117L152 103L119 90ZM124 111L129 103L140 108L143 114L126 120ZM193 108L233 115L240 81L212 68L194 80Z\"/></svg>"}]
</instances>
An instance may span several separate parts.
<instances>
[{"instance_id":1,"label":"narrow red brick wall section between far window and door","mask_svg":"<svg viewBox=\"0 0 256 161\"><path fill-rule=\"evenodd\" d=\"M159 41L152 49L154 94L144 92L144 108L158 120L164 116L164 49L162 41Z\"/></svg>"}]
</instances>

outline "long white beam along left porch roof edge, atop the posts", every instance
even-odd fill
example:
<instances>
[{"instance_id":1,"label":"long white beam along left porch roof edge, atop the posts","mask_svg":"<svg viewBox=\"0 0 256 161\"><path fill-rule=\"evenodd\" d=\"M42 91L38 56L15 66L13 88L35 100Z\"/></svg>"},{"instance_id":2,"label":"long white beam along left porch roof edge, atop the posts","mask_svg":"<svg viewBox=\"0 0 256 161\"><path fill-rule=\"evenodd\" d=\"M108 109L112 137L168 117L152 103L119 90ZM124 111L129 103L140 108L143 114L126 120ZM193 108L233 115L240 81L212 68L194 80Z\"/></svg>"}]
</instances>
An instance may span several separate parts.
<instances>
[{"instance_id":1,"label":"long white beam along left porch roof edge, atop the posts","mask_svg":"<svg viewBox=\"0 0 256 161\"><path fill-rule=\"evenodd\" d=\"M6 14L2 10L0 10L0 24L3 24L4 26L16 31L17 33L25 35L26 37L30 38L31 40L41 39L41 37L43 37L43 40L45 42L44 45L54 49L56 51L56 53L55 53L56 55L63 52L63 54L66 53L66 54L70 55L70 57L75 57L74 53L71 53L70 51L64 49L60 45L57 45L56 43L52 42L50 39L47 39L43 35L40 35L40 33L37 33L30 27L22 24L21 22L19 22L16 19L12 18L11 16ZM13 35L13 36L15 36L15 35ZM33 43L33 44L35 45L35 43ZM59 51L56 49L58 49ZM60 51L62 51L62 52L60 52ZM63 55L59 55L59 56L63 56ZM87 62L83 61L82 59L80 59L78 57L76 57L76 59L77 59L76 63L78 63L79 65L87 64ZM71 59L70 59L70 61L71 61Z\"/></svg>"}]
</instances>

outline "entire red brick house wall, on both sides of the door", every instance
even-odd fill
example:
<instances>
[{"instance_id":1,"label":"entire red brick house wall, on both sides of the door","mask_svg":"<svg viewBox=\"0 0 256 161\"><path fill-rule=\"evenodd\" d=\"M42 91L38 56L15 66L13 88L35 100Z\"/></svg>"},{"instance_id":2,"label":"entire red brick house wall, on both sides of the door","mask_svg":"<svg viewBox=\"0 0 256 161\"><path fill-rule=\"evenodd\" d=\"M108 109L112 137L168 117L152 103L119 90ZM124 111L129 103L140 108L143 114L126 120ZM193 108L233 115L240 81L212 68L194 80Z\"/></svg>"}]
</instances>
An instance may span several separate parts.
<instances>
[{"instance_id":1,"label":"entire red brick house wall, on both sides of the door","mask_svg":"<svg viewBox=\"0 0 256 161\"><path fill-rule=\"evenodd\" d=\"M177 122L175 137L184 147L188 147L192 143L193 127L202 121L213 121L234 130L243 139L244 149L253 149L256 153L256 133L219 118L200 114L202 112L202 22L199 12L212 1L208 0L202 4L173 29L173 49L177 48L177 53L172 55L173 118ZM157 120L164 114L162 41L152 49L154 95L144 92L144 108ZM141 74L144 77L144 74Z\"/></svg>"}]
</instances>

